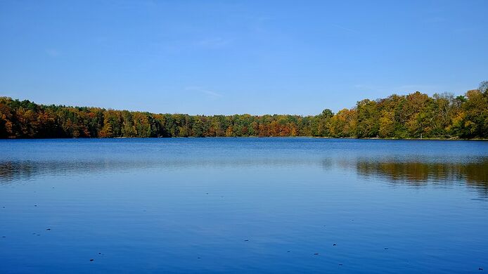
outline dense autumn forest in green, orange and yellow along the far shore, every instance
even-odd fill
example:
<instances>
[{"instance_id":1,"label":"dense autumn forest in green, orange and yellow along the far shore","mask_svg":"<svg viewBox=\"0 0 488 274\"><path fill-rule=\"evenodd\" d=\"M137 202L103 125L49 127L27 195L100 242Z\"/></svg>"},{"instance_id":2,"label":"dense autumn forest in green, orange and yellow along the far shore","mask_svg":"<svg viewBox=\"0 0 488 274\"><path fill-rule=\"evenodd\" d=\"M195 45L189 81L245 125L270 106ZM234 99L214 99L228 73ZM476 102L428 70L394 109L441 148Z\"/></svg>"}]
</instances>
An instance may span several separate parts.
<instances>
[{"instance_id":1,"label":"dense autumn forest in green, orange and yellow along the far shore","mask_svg":"<svg viewBox=\"0 0 488 274\"><path fill-rule=\"evenodd\" d=\"M316 116L153 114L0 97L0 138L190 136L488 138L488 81L464 96L416 91Z\"/></svg>"}]
</instances>

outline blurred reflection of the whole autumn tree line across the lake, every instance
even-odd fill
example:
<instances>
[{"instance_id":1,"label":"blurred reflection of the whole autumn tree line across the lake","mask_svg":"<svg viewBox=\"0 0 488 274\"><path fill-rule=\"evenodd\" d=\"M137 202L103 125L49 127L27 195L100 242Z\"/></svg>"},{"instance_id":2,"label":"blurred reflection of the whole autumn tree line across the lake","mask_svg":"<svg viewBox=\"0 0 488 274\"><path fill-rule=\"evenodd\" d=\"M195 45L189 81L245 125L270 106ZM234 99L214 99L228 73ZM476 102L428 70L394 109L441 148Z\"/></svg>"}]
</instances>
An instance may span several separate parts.
<instances>
[{"instance_id":1,"label":"blurred reflection of the whole autumn tree line across the lake","mask_svg":"<svg viewBox=\"0 0 488 274\"><path fill-rule=\"evenodd\" d=\"M35 176L83 174L129 169L245 168L300 167L321 164L325 169L343 169L358 176L390 183L422 186L428 183L467 185L488 191L488 157L470 159L405 159L397 158L333 158L312 159L256 158L256 159L146 159L123 161L98 159L92 161L4 161L0 162L0 183L26 180Z\"/></svg>"}]
</instances>

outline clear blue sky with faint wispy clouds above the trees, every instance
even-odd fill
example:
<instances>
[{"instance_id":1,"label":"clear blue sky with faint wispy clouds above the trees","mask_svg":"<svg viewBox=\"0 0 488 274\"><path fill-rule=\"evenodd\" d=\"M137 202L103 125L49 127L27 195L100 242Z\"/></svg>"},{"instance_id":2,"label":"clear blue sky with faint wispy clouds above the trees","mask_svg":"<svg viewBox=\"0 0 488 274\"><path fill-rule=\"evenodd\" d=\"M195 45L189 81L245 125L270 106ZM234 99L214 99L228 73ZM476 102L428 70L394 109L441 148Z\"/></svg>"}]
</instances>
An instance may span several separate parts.
<instances>
[{"instance_id":1,"label":"clear blue sky with faint wispy clouds above the trees","mask_svg":"<svg viewBox=\"0 0 488 274\"><path fill-rule=\"evenodd\" d=\"M488 1L5 1L0 96L316 115L488 80Z\"/></svg>"}]
</instances>

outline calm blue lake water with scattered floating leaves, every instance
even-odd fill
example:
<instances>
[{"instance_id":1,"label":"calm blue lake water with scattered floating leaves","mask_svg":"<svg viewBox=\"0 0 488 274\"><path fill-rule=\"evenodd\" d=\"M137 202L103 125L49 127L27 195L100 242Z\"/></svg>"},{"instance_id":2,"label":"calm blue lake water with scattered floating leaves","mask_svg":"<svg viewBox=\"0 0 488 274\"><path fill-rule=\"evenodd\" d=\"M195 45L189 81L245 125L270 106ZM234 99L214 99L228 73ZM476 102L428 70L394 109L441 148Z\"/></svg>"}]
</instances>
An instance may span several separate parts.
<instances>
[{"instance_id":1,"label":"calm blue lake water with scattered floating leaves","mask_svg":"<svg viewBox=\"0 0 488 274\"><path fill-rule=\"evenodd\" d=\"M0 273L484 271L488 142L0 141Z\"/></svg>"}]
</instances>

